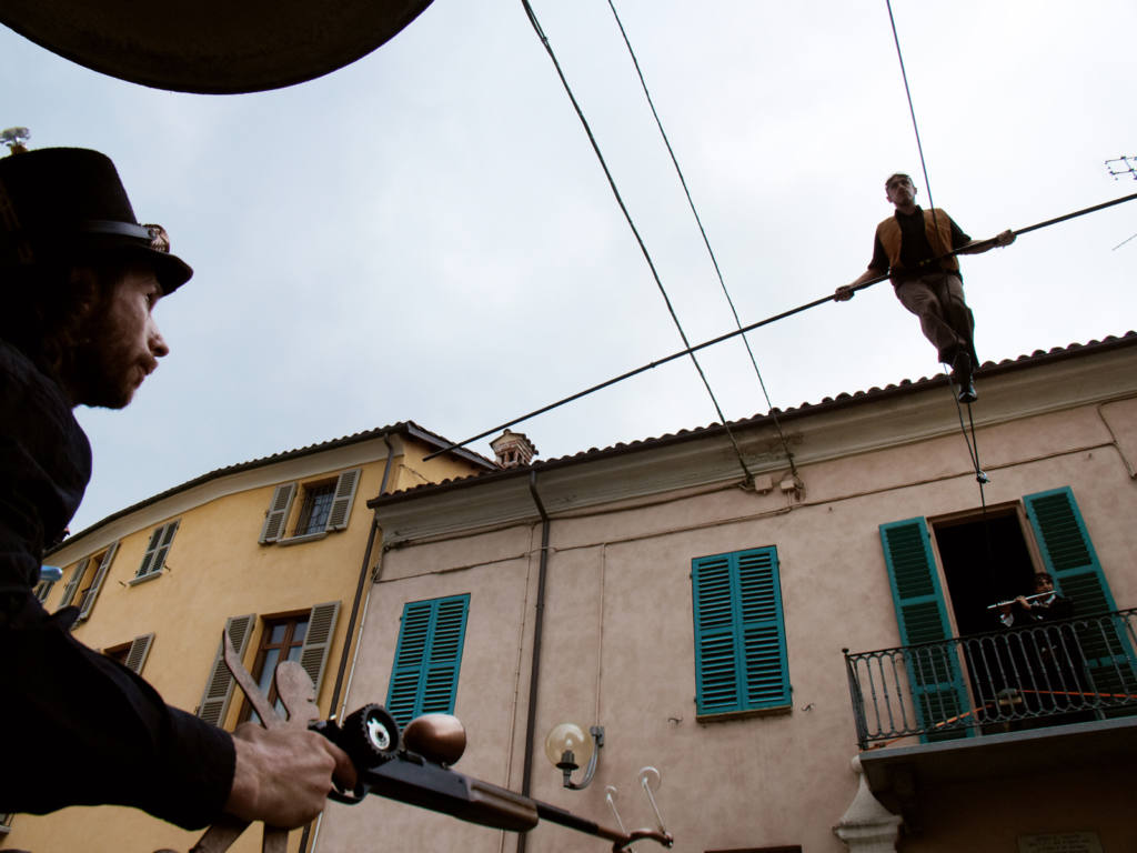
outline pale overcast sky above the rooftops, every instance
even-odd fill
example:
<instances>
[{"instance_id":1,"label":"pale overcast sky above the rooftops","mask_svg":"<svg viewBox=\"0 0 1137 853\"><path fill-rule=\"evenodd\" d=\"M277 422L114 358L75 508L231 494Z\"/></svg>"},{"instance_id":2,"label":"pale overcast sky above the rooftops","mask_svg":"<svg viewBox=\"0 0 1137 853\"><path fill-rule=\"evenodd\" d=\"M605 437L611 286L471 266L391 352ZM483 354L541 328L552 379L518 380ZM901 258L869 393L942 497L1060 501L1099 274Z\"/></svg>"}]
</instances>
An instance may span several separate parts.
<instances>
[{"instance_id":1,"label":"pale overcast sky above the rooftops","mask_svg":"<svg viewBox=\"0 0 1137 853\"><path fill-rule=\"evenodd\" d=\"M692 342L733 328L606 0L532 0ZM936 205L974 238L1137 191L1131 0L896 0ZM744 323L832 292L910 172L885 0L617 0ZM518 0L435 0L289 89L125 83L0 27L0 126L117 164L193 280L124 412L81 409L72 524L216 467L413 420L459 440L681 348ZM965 258L980 358L1135 325L1137 202ZM939 371L888 284L750 336L774 406ZM727 417L766 412L741 343L700 361ZM979 382L982 406L982 382ZM951 400L945 396L945 405ZM717 420L688 359L514 429L541 458ZM490 454L482 440L473 449Z\"/></svg>"}]
</instances>

